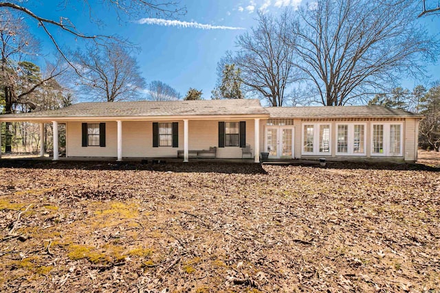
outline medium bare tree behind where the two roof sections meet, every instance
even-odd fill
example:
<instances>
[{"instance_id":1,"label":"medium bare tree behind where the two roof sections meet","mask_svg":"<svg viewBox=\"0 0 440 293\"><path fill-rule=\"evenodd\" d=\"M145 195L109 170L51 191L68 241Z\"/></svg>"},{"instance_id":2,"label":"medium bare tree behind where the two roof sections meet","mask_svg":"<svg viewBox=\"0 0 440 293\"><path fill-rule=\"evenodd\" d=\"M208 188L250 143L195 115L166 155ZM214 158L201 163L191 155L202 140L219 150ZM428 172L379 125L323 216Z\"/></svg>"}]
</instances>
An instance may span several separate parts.
<instances>
[{"instance_id":1,"label":"medium bare tree behind where the two roof sections meet","mask_svg":"<svg viewBox=\"0 0 440 293\"><path fill-rule=\"evenodd\" d=\"M241 71L245 86L266 99L271 106L283 106L285 90L298 79L294 74L292 49L287 38L287 14L278 19L259 12L259 25L236 40L238 51L228 63Z\"/></svg>"}]
</instances>

